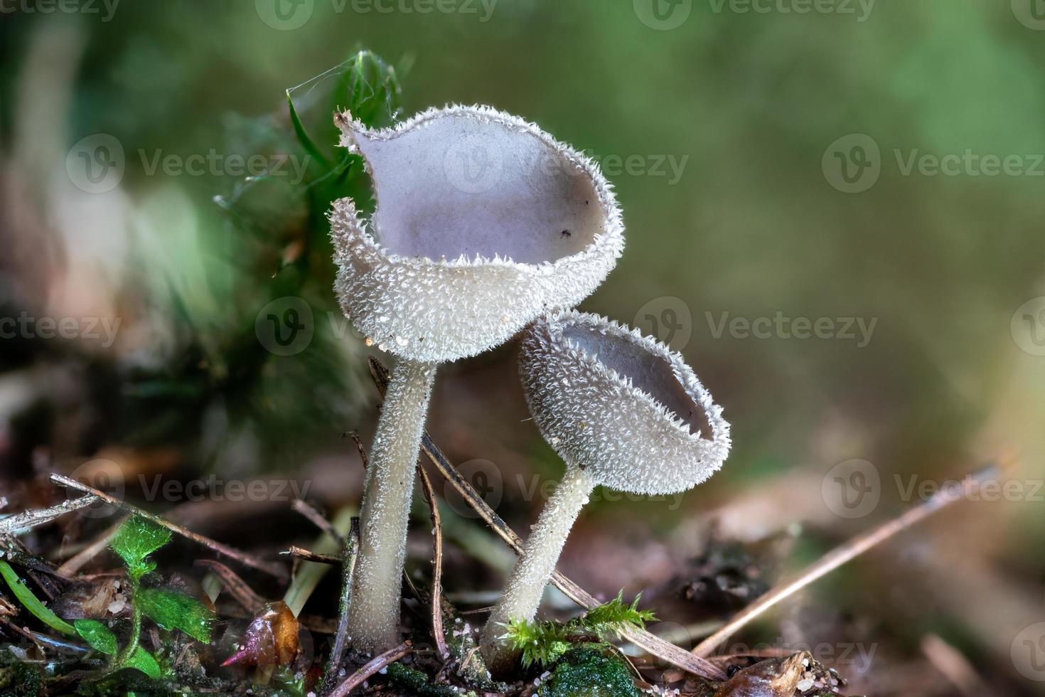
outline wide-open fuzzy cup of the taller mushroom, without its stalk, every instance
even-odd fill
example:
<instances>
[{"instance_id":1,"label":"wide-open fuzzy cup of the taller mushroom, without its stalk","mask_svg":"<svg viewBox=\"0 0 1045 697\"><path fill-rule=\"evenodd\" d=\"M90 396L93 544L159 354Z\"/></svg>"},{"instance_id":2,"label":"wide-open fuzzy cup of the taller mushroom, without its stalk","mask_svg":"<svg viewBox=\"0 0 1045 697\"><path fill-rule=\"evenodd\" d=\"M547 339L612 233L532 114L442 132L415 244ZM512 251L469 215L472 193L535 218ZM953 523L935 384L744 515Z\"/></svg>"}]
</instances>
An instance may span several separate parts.
<instances>
[{"instance_id":1,"label":"wide-open fuzzy cup of the taller mushroom, without its stalk","mask_svg":"<svg viewBox=\"0 0 1045 697\"><path fill-rule=\"evenodd\" d=\"M587 297L623 251L598 165L532 123L487 107L432 109L381 131L348 114L338 122L364 157L376 210L367 220L350 199L334 202L335 291L392 353L444 362L492 348ZM493 158L488 188L456 169L475 148Z\"/></svg>"}]
</instances>

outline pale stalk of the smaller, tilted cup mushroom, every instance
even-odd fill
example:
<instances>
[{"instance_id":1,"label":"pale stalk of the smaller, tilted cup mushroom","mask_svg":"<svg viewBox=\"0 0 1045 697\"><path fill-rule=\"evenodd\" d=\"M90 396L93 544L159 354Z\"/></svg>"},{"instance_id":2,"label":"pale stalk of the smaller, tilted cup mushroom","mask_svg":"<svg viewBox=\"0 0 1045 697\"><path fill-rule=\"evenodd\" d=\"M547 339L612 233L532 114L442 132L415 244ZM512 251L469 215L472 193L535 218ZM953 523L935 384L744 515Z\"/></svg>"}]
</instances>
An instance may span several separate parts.
<instances>
[{"instance_id":1,"label":"pale stalk of the smaller, tilted cup mushroom","mask_svg":"<svg viewBox=\"0 0 1045 697\"><path fill-rule=\"evenodd\" d=\"M580 467L566 467L562 481L541 511L512 571L505 595L490 613L483 630L483 656L494 675L505 673L517 653L500 641L509 620L533 620L570 529L588 501L596 481Z\"/></svg>"}]
</instances>

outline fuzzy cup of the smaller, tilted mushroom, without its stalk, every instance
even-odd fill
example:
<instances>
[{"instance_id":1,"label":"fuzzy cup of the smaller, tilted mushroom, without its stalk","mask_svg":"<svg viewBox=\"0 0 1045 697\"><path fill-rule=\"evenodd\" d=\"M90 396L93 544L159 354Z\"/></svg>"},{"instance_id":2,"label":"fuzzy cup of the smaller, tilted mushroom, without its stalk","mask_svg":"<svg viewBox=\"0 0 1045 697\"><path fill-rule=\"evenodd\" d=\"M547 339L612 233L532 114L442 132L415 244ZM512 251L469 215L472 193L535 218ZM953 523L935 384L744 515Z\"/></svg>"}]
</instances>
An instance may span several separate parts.
<instances>
[{"instance_id":1,"label":"fuzzy cup of the smaller, tilted mushroom, without its stalk","mask_svg":"<svg viewBox=\"0 0 1045 697\"><path fill-rule=\"evenodd\" d=\"M544 439L611 489L684 491L729 452L722 409L682 356L603 317L539 319L522 340L519 373Z\"/></svg>"}]
</instances>

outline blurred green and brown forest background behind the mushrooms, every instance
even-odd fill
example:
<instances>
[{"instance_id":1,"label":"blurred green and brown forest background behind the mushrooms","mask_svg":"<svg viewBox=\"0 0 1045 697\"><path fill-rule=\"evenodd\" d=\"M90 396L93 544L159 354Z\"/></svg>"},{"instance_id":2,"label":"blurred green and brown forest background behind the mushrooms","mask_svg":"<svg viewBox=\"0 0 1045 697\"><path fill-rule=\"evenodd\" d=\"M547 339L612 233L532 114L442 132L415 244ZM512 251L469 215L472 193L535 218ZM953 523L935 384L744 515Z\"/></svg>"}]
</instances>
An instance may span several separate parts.
<instances>
[{"instance_id":1,"label":"blurred green and brown forest background behind the mushrooms","mask_svg":"<svg viewBox=\"0 0 1045 697\"><path fill-rule=\"evenodd\" d=\"M627 248L582 307L670 342L733 423L697 490L595 496L561 568L647 591L692 646L781 576L1001 463L1000 496L737 641L822 645L868 694L969 694L962 667L977 694L1043 693L1041 0L0 9L0 513L64 495L50 471L100 468L152 510L271 551L301 534L285 499L149 497L139 474L293 480L328 510L356 505L345 434L369 442L366 356L391 358L331 291L329 201L368 189L330 116L488 103L600 161ZM429 431L519 531L561 471L527 416L513 345L440 371ZM511 555L460 499L444 510L468 572L447 591L481 605Z\"/></svg>"}]
</instances>

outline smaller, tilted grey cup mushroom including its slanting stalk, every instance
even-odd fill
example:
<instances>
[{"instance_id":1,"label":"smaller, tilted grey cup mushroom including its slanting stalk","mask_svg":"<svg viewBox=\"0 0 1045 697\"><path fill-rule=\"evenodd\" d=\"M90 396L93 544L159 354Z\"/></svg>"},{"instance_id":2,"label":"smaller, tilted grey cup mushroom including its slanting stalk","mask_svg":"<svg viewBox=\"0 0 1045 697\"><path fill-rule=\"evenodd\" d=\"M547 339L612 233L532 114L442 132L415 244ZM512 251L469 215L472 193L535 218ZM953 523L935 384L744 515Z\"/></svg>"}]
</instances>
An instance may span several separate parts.
<instances>
[{"instance_id":1,"label":"smaller, tilted grey cup mushroom including its slanting stalk","mask_svg":"<svg viewBox=\"0 0 1045 697\"><path fill-rule=\"evenodd\" d=\"M729 452L729 424L682 357L596 315L534 323L519 373L530 413L566 470L515 564L483 633L494 674L515 652L500 641L512 619L533 620L566 535L597 484L668 494L700 484Z\"/></svg>"}]
</instances>

